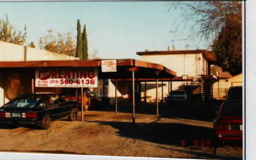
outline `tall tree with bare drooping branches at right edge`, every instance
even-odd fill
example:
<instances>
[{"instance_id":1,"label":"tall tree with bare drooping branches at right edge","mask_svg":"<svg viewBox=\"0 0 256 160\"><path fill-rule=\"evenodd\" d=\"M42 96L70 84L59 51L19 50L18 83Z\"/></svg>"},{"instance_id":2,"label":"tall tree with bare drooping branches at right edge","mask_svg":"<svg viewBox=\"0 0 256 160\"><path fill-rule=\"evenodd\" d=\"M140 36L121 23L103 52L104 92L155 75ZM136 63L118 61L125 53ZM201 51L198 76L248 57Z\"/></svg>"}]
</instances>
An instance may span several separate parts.
<instances>
[{"instance_id":1,"label":"tall tree with bare drooping branches at right edge","mask_svg":"<svg viewBox=\"0 0 256 160\"><path fill-rule=\"evenodd\" d=\"M214 40L212 50L217 55L217 65L232 75L241 73L241 1L174 2L169 10L172 8L182 10L180 24L190 24L191 32L185 39L204 38L209 43Z\"/></svg>"}]
</instances>

